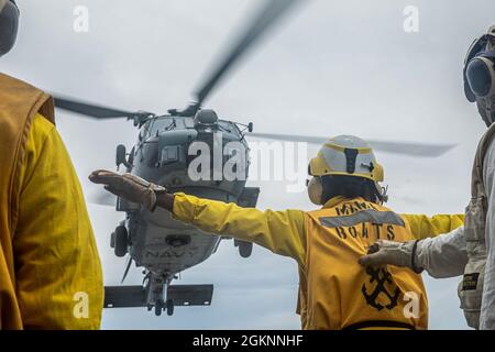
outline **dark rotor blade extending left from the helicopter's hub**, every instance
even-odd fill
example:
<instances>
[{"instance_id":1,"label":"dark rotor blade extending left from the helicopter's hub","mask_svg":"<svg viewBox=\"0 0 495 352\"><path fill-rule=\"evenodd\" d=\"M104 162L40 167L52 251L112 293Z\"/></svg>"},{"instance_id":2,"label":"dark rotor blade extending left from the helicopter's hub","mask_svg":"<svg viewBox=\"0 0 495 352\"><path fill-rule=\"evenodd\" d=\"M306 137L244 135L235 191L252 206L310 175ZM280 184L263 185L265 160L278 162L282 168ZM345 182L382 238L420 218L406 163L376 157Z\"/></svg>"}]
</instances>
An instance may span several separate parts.
<instances>
[{"instance_id":1,"label":"dark rotor blade extending left from the helicopter's hub","mask_svg":"<svg viewBox=\"0 0 495 352\"><path fill-rule=\"evenodd\" d=\"M55 107L58 109L76 112L95 119L133 119L142 116L142 112L130 112L124 110L118 110L113 108L107 108L90 102L85 102L72 98L63 98L54 96Z\"/></svg>"}]
</instances>

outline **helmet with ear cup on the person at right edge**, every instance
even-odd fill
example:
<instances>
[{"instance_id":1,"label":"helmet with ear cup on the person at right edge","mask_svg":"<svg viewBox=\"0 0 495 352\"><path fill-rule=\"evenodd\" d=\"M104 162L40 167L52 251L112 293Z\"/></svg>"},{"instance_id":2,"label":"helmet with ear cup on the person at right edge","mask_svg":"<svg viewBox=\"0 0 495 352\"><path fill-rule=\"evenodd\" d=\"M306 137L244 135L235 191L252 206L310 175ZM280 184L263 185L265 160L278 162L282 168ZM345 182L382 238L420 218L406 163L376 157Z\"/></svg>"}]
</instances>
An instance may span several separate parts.
<instances>
[{"instance_id":1,"label":"helmet with ear cup on the person at right edge","mask_svg":"<svg viewBox=\"0 0 495 352\"><path fill-rule=\"evenodd\" d=\"M474 41L464 63L464 94L469 101L495 94L495 50L486 51L487 44L495 43L493 34L485 34Z\"/></svg>"}]
</instances>

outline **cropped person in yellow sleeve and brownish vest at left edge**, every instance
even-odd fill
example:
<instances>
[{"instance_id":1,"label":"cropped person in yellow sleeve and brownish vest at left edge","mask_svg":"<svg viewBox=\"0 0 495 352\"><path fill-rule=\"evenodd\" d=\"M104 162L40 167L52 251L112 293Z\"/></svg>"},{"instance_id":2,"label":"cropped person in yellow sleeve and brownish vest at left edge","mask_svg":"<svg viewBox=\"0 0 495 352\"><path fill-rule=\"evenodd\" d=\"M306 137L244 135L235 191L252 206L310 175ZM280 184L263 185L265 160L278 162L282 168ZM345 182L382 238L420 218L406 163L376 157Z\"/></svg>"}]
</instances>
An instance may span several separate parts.
<instances>
[{"instance_id":1,"label":"cropped person in yellow sleeve and brownish vest at left edge","mask_svg":"<svg viewBox=\"0 0 495 352\"><path fill-rule=\"evenodd\" d=\"M20 11L0 0L0 56ZM102 273L53 99L0 73L0 329L98 329Z\"/></svg>"}]
</instances>

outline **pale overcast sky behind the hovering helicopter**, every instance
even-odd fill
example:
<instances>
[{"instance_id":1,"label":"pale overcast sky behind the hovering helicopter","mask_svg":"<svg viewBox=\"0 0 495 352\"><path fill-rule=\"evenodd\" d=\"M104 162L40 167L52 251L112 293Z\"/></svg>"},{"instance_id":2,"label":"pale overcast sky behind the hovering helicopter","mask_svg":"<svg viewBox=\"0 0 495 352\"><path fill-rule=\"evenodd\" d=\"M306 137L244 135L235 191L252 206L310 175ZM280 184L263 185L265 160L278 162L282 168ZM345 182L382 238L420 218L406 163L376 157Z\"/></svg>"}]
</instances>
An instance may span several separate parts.
<instances>
[{"instance_id":1,"label":"pale overcast sky behind the hovering helicopter","mask_svg":"<svg viewBox=\"0 0 495 352\"><path fill-rule=\"evenodd\" d=\"M130 110L182 108L243 24L254 0L18 1L21 29L0 69L50 91ZM89 10L89 32L74 31L74 9ZM404 9L419 10L419 32L403 29ZM484 124L462 90L462 64L473 38L495 19L493 0L312 0L263 41L208 107L223 119L254 122L255 131L355 134L365 139L455 144L439 158L378 153L389 185L388 206L399 212L462 212L471 164ZM113 168L119 143L132 146L136 130L124 121L96 122L58 112L58 130L82 187L87 175ZM309 155L317 147L310 147ZM304 165L306 167L306 165ZM257 182L262 209L314 207L284 182ZM123 216L88 205L105 280L120 280L124 261L109 234ZM459 278L425 276L430 327L464 329ZM127 284L142 280L133 270ZM298 329L294 261L256 246L240 258L226 241L182 283L215 284L211 307L177 308L156 318L144 309L106 310L106 329Z\"/></svg>"}]
</instances>

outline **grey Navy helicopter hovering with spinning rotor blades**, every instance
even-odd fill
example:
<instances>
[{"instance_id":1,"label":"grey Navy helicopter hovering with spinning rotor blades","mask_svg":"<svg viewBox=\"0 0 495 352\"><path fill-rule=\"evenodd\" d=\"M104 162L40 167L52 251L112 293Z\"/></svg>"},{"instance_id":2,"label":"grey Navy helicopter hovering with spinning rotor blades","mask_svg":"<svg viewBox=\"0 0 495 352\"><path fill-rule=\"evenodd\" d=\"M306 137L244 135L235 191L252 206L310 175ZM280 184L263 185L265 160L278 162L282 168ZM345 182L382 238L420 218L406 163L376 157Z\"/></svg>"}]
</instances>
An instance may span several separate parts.
<instances>
[{"instance_id":1,"label":"grey Navy helicopter hovering with spinning rotor blades","mask_svg":"<svg viewBox=\"0 0 495 352\"><path fill-rule=\"evenodd\" d=\"M245 55L260 38L265 35L284 14L302 0L266 0L249 22L245 31L229 47L227 55L213 66L194 94L193 102L186 109L169 109L165 114L147 111L124 111L101 105L85 102L54 95L55 107L81 116L103 119L127 118L139 129L138 141L128 152L122 144L117 146L117 168L124 167L131 173L172 193L183 191L197 197L235 202L241 207L255 207L260 188L246 187L249 176L249 143L246 135L270 140L284 140L307 143L323 143L326 138L254 133L253 124L243 124L230 119L219 119L204 105L219 81L227 76L239 59ZM243 154L243 167L237 169L243 177L193 178L189 168L198 156L190 153L195 143L215 144L237 143L235 153L221 155L221 167L233 155ZM431 145L405 142L370 141L376 150L422 157L439 156L451 145ZM215 155L210 155L213 162ZM215 167L211 167L215 173ZM210 175L211 176L211 175ZM213 175L215 176L215 175ZM200 264L210 257L222 240L228 235L216 237L200 231L190 224L177 221L163 209L151 212L147 209L112 198L117 211L125 215L110 235L110 245L119 257L128 256L122 282L132 263L144 267L142 285L107 286L105 308L146 307L156 316L166 311L174 314L175 307L209 306L213 295L213 285L173 285L178 274ZM103 202L108 202L103 201ZM253 244L233 240L242 257L249 257Z\"/></svg>"}]
</instances>

